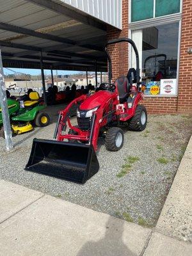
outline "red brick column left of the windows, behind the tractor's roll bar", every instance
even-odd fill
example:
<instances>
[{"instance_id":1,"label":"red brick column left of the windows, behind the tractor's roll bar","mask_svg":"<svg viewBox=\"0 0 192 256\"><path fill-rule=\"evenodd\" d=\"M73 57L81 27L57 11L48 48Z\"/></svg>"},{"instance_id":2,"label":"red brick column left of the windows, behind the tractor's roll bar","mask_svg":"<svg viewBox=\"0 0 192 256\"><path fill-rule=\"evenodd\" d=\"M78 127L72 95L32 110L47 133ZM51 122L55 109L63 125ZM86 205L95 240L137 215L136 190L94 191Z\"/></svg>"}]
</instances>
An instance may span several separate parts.
<instances>
[{"instance_id":1,"label":"red brick column left of the windows, behind the tractor's roll bar","mask_svg":"<svg viewBox=\"0 0 192 256\"><path fill-rule=\"evenodd\" d=\"M128 37L128 0L122 1L122 31L115 28L108 28L108 40ZM128 47L126 42L109 45L108 51L111 55L113 81L128 72Z\"/></svg>"}]
</instances>

